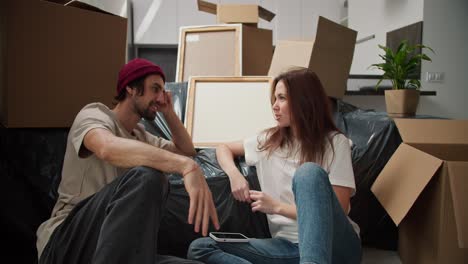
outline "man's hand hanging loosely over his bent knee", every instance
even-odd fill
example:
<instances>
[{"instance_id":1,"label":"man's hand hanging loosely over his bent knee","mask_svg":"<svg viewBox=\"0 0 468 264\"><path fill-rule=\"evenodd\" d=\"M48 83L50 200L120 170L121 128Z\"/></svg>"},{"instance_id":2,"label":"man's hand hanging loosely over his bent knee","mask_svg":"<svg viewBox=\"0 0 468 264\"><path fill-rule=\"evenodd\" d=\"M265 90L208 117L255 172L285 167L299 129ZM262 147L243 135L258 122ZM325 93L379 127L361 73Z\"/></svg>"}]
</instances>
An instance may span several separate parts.
<instances>
[{"instance_id":1,"label":"man's hand hanging loosely over his bent knee","mask_svg":"<svg viewBox=\"0 0 468 264\"><path fill-rule=\"evenodd\" d=\"M197 233L200 232L200 225L202 225L202 234L206 236L211 218L214 227L218 230L218 214L213 203L213 196L208 188L203 171L198 165L196 169L191 169L184 174L184 185L190 197L188 223L195 225L194 230Z\"/></svg>"}]
</instances>

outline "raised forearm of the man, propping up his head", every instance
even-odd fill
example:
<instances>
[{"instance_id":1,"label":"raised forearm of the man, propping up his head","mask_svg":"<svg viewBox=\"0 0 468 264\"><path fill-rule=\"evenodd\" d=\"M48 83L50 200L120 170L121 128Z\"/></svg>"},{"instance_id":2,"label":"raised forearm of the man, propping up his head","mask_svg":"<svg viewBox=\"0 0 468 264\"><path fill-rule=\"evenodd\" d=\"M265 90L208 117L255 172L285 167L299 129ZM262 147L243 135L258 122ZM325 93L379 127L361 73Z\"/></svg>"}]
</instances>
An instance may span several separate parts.
<instances>
[{"instance_id":1,"label":"raised forearm of the man, propping up his head","mask_svg":"<svg viewBox=\"0 0 468 264\"><path fill-rule=\"evenodd\" d=\"M177 149L187 156L195 156L196 152L192 139L176 113L174 111L168 111L164 114L164 118L171 130L172 142L174 142Z\"/></svg>"}]
</instances>

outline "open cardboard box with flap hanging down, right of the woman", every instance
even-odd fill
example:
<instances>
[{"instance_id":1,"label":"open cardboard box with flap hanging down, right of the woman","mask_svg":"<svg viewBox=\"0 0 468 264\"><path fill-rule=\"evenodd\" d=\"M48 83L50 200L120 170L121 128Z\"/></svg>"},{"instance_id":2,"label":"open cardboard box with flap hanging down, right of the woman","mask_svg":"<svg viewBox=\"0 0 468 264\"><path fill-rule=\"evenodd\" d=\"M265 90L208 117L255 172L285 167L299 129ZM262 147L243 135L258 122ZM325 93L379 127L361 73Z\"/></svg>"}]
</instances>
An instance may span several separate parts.
<instances>
[{"instance_id":1,"label":"open cardboard box with flap hanging down, right of the woman","mask_svg":"<svg viewBox=\"0 0 468 264\"><path fill-rule=\"evenodd\" d=\"M468 120L395 119L403 143L371 190L403 263L468 263Z\"/></svg>"}]
</instances>

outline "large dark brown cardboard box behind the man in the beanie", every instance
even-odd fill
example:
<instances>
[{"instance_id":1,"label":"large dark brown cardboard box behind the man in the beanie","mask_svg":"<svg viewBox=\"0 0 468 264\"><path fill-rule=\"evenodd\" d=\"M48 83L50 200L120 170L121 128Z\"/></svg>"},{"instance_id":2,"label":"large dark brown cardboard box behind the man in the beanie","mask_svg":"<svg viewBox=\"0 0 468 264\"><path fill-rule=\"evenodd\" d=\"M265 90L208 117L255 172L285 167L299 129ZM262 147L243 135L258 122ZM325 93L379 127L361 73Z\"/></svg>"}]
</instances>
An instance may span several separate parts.
<instances>
[{"instance_id":1,"label":"large dark brown cardboard box behind the man in the beanie","mask_svg":"<svg viewBox=\"0 0 468 264\"><path fill-rule=\"evenodd\" d=\"M69 127L84 105L112 105L126 58L127 19L75 4L80 7L0 1L4 126Z\"/></svg>"}]
</instances>

